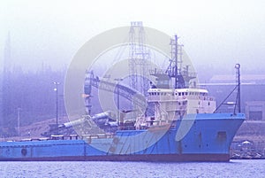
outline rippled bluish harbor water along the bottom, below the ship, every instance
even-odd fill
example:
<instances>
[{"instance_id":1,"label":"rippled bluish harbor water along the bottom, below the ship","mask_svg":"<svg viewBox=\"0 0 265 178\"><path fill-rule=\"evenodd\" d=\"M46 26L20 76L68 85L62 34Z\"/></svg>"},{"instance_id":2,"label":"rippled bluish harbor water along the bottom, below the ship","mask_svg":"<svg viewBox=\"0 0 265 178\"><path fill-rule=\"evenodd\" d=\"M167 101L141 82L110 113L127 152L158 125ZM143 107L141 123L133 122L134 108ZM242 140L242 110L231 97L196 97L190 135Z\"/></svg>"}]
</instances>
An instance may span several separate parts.
<instances>
[{"instance_id":1,"label":"rippled bluish harbor water along the bottom, below the ship","mask_svg":"<svg viewBox=\"0 0 265 178\"><path fill-rule=\"evenodd\" d=\"M265 159L230 162L0 162L0 177L265 177Z\"/></svg>"}]
</instances>

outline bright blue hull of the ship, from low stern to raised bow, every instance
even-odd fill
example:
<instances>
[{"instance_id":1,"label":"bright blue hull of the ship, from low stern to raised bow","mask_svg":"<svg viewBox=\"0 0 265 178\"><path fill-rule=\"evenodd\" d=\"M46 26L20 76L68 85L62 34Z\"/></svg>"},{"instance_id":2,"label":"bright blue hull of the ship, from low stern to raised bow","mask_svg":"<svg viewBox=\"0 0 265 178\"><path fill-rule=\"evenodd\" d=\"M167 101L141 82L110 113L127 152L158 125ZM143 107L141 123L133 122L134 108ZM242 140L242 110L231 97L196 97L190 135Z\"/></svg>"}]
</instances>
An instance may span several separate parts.
<instances>
[{"instance_id":1,"label":"bright blue hull of the ship, from low stern to raised bow","mask_svg":"<svg viewBox=\"0 0 265 178\"><path fill-rule=\"evenodd\" d=\"M164 133L118 130L112 138L3 142L0 160L229 161L231 141L244 120L242 113L199 113Z\"/></svg>"}]
</instances>

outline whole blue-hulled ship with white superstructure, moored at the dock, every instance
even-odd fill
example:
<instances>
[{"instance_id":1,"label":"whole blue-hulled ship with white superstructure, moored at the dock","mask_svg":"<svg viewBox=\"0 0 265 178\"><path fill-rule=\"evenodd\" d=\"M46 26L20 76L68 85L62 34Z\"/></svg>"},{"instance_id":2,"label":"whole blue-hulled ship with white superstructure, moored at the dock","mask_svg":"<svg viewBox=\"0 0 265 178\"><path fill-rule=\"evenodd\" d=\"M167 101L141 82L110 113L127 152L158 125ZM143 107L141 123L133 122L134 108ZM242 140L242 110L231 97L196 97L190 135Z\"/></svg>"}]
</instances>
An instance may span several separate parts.
<instances>
[{"instance_id":1,"label":"whole blue-hulled ship with white superstructure, moored at the dock","mask_svg":"<svg viewBox=\"0 0 265 178\"><path fill-rule=\"evenodd\" d=\"M148 113L133 121L122 114L113 119L112 111L88 114L58 128L95 125L104 132L2 142L0 160L229 161L244 113L216 112L215 98L207 89L187 86L188 71L179 73L175 64L175 74L152 73L157 83L148 89ZM99 81L92 74L87 73L85 82L86 102L91 82ZM171 89L172 77L176 83Z\"/></svg>"}]
</instances>

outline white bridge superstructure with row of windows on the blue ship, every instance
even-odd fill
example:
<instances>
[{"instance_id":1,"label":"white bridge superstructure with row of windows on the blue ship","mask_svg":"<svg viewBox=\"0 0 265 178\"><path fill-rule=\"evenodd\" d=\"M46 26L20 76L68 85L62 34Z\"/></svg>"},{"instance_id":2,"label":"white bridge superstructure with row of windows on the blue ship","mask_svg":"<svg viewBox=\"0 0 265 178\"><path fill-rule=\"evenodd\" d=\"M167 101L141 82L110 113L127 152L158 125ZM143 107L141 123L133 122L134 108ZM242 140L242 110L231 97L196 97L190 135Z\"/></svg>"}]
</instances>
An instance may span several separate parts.
<instances>
[{"instance_id":1,"label":"white bridge superstructure with row of windows on the blue ship","mask_svg":"<svg viewBox=\"0 0 265 178\"><path fill-rule=\"evenodd\" d=\"M148 94L148 103L155 104L155 118L163 120L216 110L216 100L208 96L207 89L148 89Z\"/></svg>"}]
</instances>

